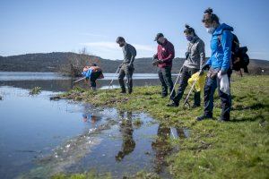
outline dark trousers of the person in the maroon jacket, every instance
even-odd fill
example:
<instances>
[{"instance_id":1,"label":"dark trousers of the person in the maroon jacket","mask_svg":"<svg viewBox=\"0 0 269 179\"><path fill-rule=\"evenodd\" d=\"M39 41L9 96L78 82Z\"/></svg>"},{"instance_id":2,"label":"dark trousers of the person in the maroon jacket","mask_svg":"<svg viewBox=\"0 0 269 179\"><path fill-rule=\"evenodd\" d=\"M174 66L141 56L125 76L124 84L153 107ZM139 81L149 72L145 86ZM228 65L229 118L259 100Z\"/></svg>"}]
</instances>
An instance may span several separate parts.
<instances>
[{"instance_id":1,"label":"dark trousers of the person in the maroon jacket","mask_svg":"<svg viewBox=\"0 0 269 179\"><path fill-rule=\"evenodd\" d=\"M158 69L159 79L161 81L161 94L162 96L168 95L168 88L170 92L173 90L174 84L171 77L171 67L164 67ZM171 97L174 97L176 92L173 91Z\"/></svg>"}]
</instances>

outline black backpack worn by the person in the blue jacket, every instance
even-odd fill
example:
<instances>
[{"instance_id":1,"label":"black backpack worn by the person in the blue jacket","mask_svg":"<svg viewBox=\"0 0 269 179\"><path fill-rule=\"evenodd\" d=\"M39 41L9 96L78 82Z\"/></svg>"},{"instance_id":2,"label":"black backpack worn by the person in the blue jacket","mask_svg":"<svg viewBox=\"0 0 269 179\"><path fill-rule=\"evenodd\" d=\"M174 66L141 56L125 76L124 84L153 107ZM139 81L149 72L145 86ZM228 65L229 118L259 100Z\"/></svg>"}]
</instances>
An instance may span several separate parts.
<instances>
[{"instance_id":1,"label":"black backpack worn by the person in the blue jacket","mask_svg":"<svg viewBox=\"0 0 269 179\"><path fill-rule=\"evenodd\" d=\"M231 42L231 61L230 66L234 71L241 71L241 68L244 69L244 72L248 72L247 65L249 64L249 57L247 55L247 47L240 47L239 38L232 33L233 39ZM221 36L218 37L221 44Z\"/></svg>"}]
</instances>

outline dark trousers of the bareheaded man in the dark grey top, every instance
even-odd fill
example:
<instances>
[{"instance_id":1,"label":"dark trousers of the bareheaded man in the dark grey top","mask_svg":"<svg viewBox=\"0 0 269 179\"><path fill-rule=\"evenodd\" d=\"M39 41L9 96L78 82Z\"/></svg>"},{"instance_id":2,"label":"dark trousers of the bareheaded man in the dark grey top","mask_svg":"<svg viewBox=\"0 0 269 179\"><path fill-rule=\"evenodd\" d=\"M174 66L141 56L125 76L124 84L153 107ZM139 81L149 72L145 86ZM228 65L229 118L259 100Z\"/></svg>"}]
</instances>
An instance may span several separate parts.
<instances>
[{"instance_id":1,"label":"dark trousers of the bareheaded man in the dark grey top","mask_svg":"<svg viewBox=\"0 0 269 179\"><path fill-rule=\"evenodd\" d=\"M127 64L123 64L119 70L118 82L122 91L126 91L126 85L124 78L126 76L127 88L129 91L133 90L133 73L134 67L128 67Z\"/></svg>"}]
</instances>

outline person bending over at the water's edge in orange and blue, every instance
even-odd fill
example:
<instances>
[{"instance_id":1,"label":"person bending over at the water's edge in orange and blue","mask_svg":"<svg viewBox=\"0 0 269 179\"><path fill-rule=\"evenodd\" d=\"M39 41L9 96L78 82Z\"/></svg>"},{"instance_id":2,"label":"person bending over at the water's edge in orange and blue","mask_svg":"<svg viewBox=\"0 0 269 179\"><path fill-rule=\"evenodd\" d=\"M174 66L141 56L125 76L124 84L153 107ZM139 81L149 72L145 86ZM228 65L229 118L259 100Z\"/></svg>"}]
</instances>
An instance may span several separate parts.
<instances>
[{"instance_id":1,"label":"person bending over at the water's edge in orange and blue","mask_svg":"<svg viewBox=\"0 0 269 179\"><path fill-rule=\"evenodd\" d=\"M96 90L96 80L104 78L102 70L97 64L85 66L83 68L82 76L85 76L86 80L90 80L92 90Z\"/></svg>"}]
</instances>

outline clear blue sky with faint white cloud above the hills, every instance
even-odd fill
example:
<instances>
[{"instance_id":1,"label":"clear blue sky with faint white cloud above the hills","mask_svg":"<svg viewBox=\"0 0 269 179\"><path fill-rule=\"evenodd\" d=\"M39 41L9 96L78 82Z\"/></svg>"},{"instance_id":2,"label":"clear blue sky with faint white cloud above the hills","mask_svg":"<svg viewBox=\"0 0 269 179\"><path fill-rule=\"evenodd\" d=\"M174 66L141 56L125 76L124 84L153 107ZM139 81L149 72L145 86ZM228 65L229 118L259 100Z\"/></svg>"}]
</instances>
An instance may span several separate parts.
<instances>
[{"instance_id":1,"label":"clear blue sky with faint white cloud above the hills","mask_svg":"<svg viewBox=\"0 0 269 179\"><path fill-rule=\"evenodd\" d=\"M221 23L234 28L250 58L269 60L269 0L0 0L0 55L75 52L123 58L116 38L134 45L137 57L152 57L162 32L176 56L187 50L185 24L204 40L204 10L213 8Z\"/></svg>"}]
</instances>

